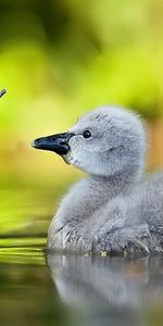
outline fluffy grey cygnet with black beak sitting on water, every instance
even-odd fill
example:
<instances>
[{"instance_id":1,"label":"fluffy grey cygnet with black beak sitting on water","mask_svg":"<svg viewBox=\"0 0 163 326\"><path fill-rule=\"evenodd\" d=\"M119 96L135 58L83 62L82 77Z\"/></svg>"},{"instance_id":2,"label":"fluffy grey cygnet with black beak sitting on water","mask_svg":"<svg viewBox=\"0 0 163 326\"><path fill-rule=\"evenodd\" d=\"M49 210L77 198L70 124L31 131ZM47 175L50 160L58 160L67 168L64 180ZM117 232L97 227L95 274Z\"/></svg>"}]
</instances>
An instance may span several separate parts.
<instances>
[{"instance_id":1,"label":"fluffy grey cygnet with black beak sitting on water","mask_svg":"<svg viewBox=\"0 0 163 326\"><path fill-rule=\"evenodd\" d=\"M99 108L65 134L36 139L88 173L61 202L48 248L75 251L153 251L163 244L163 174L140 180L146 148L139 117Z\"/></svg>"}]
</instances>

